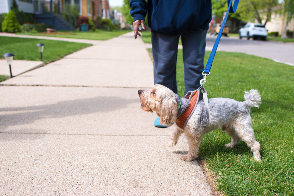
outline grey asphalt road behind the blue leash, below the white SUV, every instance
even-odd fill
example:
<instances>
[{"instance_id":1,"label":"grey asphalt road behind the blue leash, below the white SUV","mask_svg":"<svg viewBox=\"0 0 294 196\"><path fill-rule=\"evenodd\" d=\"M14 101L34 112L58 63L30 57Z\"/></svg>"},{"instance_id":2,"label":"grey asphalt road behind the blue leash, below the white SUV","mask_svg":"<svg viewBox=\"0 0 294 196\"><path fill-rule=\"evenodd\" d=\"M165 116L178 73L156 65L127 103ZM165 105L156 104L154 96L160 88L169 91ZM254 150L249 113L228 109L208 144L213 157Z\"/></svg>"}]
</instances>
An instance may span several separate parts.
<instances>
[{"instance_id":1,"label":"grey asphalt road behind the blue leash, below the white SUV","mask_svg":"<svg viewBox=\"0 0 294 196\"><path fill-rule=\"evenodd\" d=\"M207 35L206 48L212 49L216 36ZM264 58L269 58L277 62L294 66L294 43L282 43L276 41L247 40L237 37L220 38L217 51L241 52L252 54Z\"/></svg>"}]
</instances>

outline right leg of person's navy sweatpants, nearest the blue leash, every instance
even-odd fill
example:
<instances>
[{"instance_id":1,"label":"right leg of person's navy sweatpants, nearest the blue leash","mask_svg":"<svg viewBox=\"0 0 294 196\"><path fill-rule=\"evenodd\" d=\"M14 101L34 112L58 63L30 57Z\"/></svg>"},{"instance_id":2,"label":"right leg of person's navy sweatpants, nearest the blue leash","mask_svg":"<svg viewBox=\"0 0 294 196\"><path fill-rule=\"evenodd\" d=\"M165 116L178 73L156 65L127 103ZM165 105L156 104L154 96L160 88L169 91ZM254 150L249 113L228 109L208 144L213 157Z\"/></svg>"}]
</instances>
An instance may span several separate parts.
<instances>
[{"instance_id":1,"label":"right leg of person's navy sweatpants, nearest the blue leash","mask_svg":"<svg viewBox=\"0 0 294 196\"><path fill-rule=\"evenodd\" d=\"M185 94L200 87L203 78L206 47L205 29L193 29L181 34L185 75Z\"/></svg>"}]
</instances>

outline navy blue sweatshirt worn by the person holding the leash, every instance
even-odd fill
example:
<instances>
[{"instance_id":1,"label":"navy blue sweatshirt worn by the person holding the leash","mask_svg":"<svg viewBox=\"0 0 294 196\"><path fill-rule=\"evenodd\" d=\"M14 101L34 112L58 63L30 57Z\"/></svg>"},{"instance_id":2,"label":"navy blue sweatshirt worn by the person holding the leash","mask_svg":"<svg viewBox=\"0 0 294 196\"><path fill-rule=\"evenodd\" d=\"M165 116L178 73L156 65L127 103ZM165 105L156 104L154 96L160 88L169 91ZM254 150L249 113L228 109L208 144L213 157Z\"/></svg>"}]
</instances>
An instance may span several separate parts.
<instances>
[{"instance_id":1,"label":"navy blue sweatshirt worn by the person holding the leash","mask_svg":"<svg viewBox=\"0 0 294 196\"><path fill-rule=\"evenodd\" d=\"M148 11L148 26L159 33L208 30L211 21L211 0L131 0L130 7L134 21L144 20Z\"/></svg>"}]
</instances>

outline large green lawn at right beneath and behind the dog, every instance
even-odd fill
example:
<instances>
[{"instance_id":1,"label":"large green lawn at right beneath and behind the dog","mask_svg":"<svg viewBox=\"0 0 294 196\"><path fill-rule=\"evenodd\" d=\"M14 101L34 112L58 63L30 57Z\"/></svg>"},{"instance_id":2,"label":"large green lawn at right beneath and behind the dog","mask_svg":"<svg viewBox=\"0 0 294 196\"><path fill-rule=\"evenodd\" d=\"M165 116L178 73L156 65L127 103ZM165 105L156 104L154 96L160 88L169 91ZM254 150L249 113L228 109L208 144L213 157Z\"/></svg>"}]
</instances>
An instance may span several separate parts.
<instances>
[{"instance_id":1,"label":"large green lawn at right beneath and behind the dog","mask_svg":"<svg viewBox=\"0 0 294 196\"><path fill-rule=\"evenodd\" d=\"M150 50L149 50L150 51ZM205 64L210 52L206 52ZM178 52L178 91L184 95L182 51ZM217 176L225 195L294 195L294 67L243 53L218 51L204 87L208 97L243 101L244 91L258 89L260 108L251 108L262 162L253 160L241 141L225 148L230 137L220 129L205 135L199 155ZM191 78L193 79L193 78Z\"/></svg>"}]
</instances>

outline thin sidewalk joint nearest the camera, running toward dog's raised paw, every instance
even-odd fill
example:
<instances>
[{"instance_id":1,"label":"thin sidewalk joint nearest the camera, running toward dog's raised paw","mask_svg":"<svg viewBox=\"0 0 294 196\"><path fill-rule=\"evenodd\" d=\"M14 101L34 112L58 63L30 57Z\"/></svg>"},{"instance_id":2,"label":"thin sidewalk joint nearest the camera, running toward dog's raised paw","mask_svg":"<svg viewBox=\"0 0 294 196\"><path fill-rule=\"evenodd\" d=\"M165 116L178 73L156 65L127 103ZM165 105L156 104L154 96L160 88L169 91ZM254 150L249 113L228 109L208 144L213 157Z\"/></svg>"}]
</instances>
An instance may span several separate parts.
<instances>
[{"instance_id":1,"label":"thin sidewalk joint nearest the camera, running toward dog's raised paw","mask_svg":"<svg viewBox=\"0 0 294 196\"><path fill-rule=\"evenodd\" d=\"M122 136L122 137L169 137L170 135L110 135L110 134L78 134L78 133L17 133L0 132L0 134L27 134L27 135L81 135L81 136Z\"/></svg>"}]
</instances>

